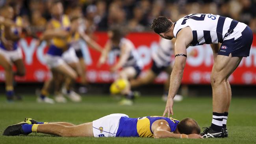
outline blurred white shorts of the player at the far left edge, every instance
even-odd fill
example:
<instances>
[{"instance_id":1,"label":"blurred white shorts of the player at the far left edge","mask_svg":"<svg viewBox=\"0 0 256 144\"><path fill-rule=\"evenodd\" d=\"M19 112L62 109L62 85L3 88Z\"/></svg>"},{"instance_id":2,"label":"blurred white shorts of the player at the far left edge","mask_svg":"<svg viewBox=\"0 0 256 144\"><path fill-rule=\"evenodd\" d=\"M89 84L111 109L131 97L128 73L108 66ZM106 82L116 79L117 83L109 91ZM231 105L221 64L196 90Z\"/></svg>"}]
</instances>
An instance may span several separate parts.
<instances>
[{"instance_id":1,"label":"blurred white shorts of the player at the far left edge","mask_svg":"<svg viewBox=\"0 0 256 144\"><path fill-rule=\"evenodd\" d=\"M10 63L23 58L21 48L17 48L16 50L4 50L0 48L0 54L2 54Z\"/></svg>"}]
</instances>

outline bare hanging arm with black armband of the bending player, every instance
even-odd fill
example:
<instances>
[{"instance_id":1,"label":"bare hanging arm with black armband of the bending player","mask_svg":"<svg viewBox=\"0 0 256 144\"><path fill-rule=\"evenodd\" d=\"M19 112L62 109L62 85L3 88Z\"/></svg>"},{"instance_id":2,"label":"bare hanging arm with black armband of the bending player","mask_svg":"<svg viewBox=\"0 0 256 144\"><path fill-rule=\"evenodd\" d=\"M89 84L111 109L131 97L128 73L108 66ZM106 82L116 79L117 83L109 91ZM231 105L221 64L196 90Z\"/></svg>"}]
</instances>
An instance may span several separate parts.
<instances>
[{"instance_id":1,"label":"bare hanging arm with black armband of the bending player","mask_svg":"<svg viewBox=\"0 0 256 144\"><path fill-rule=\"evenodd\" d=\"M168 117L170 116L170 113L173 114L173 98L176 95L182 81L183 71L187 59L187 57L185 56L187 55L186 48L190 45L192 40L193 35L189 27L180 30L176 37L176 42L174 46L174 53L176 57L170 79L168 100L163 116L165 116L166 113L168 114Z\"/></svg>"}]
</instances>

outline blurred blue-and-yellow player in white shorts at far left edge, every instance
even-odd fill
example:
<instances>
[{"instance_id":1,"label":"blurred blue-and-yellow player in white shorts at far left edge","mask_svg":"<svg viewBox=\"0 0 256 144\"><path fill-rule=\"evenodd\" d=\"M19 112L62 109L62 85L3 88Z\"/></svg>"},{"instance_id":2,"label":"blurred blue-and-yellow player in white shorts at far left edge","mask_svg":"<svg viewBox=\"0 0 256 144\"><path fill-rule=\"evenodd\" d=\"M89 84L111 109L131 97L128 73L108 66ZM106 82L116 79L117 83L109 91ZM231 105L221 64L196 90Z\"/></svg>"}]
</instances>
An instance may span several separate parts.
<instances>
[{"instance_id":1,"label":"blurred blue-and-yellow player in white shorts at far left edge","mask_svg":"<svg viewBox=\"0 0 256 144\"><path fill-rule=\"evenodd\" d=\"M3 6L0 9L1 14L1 38L0 38L0 65L5 70L6 97L8 101L16 96L13 90L13 81L15 76L25 75L25 66L22 60L22 51L18 46L18 41L22 32L22 18L14 17L14 9L10 5ZM12 24L13 22L13 24ZM13 64L17 71L13 72Z\"/></svg>"}]
</instances>

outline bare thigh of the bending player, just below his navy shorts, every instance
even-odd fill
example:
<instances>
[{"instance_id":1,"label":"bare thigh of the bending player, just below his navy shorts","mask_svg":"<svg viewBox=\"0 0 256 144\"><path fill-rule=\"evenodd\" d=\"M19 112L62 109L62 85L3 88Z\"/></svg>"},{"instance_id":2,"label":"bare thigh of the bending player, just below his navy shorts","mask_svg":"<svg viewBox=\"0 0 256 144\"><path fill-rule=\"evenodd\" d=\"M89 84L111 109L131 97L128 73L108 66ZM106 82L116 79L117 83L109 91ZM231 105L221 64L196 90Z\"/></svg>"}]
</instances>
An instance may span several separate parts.
<instances>
[{"instance_id":1,"label":"bare thigh of the bending player, just below his navy shorts","mask_svg":"<svg viewBox=\"0 0 256 144\"><path fill-rule=\"evenodd\" d=\"M242 57L232 57L231 54L229 56L217 55L211 72L212 82L226 80L237 68L241 59Z\"/></svg>"}]
</instances>

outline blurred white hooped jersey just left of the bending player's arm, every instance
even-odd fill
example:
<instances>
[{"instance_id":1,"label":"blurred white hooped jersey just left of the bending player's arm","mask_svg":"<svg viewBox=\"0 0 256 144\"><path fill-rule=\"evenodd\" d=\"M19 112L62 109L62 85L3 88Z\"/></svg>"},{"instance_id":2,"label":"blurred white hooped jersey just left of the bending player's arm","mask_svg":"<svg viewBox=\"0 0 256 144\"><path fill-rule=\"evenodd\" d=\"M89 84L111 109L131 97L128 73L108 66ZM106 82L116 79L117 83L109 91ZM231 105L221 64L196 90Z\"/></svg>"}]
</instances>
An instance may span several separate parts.
<instances>
[{"instance_id":1,"label":"blurred white hooped jersey just left of the bending player's arm","mask_svg":"<svg viewBox=\"0 0 256 144\"><path fill-rule=\"evenodd\" d=\"M161 38L156 52L152 53L152 59L157 66L169 66L172 61L173 44L168 39Z\"/></svg>"}]
</instances>

